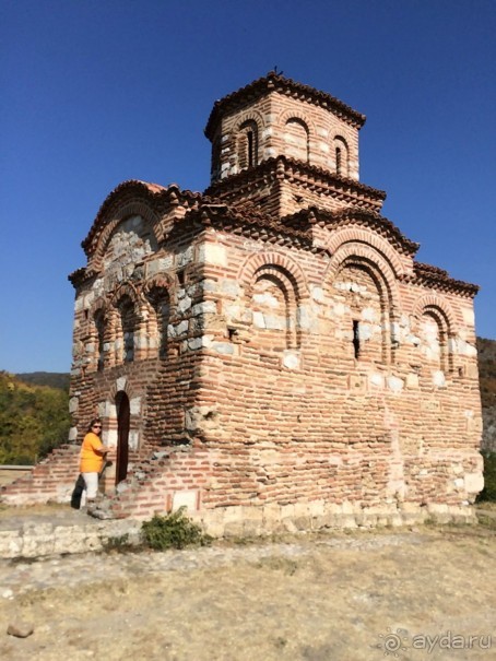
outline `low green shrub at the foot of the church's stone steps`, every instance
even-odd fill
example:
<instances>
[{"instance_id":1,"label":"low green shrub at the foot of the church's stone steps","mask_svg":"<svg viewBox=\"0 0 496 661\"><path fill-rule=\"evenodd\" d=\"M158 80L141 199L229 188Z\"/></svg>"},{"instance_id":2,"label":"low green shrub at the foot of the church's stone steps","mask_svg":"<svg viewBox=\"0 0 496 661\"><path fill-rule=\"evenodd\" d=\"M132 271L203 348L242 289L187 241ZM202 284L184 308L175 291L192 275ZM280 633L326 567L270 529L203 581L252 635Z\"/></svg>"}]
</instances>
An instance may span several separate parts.
<instances>
[{"instance_id":1,"label":"low green shrub at the foot of the church's stone steps","mask_svg":"<svg viewBox=\"0 0 496 661\"><path fill-rule=\"evenodd\" d=\"M145 544L154 551L184 548L189 545L205 546L212 538L204 534L197 523L185 516L186 507L180 507L169 515L155 515L141 527Z\"/></svg>"}]
</instances>

